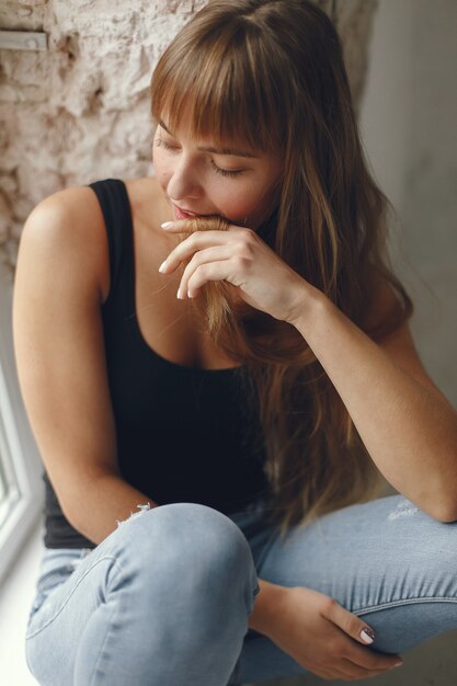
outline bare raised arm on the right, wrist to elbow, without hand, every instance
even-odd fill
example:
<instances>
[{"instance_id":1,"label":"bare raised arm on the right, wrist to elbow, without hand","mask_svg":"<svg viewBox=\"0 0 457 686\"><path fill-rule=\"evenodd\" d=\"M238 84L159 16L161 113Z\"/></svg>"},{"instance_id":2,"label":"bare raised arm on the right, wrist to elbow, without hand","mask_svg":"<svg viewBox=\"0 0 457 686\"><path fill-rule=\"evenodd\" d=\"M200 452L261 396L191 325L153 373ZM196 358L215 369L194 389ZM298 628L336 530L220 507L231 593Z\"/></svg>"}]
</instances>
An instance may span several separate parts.
<instances>
[{"instance_id":1,"label":"bare raised arm on the right, wrist to elbow, without hand","mask_svg":"<svg viewBox=\"0 0 457 686\"><path fill-rule=\"evenodd\" d=\"M457 519L457 412L422 367L408 327L377 345L308 284L301 301L294 323L378 469L431 516Z\"/></svg>"}]
</instances>

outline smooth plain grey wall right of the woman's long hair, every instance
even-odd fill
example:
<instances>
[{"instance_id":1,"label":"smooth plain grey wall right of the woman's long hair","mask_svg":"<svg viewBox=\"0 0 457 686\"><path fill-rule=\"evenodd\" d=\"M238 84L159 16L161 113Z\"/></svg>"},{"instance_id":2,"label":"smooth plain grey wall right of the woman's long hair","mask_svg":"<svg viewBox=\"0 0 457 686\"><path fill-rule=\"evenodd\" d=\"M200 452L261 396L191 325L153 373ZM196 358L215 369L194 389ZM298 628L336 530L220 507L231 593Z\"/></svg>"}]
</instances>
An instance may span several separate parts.
<instances>
[{"instance_id":1,"label":"smooth plain grey wall right of the woman's long hair","mask_svg":"<svg viewBox=\"0 0 457 686\"><path fill-rule=\"evenodd\" d=\"M379 0L361 129L422 358L457 405L457 2Z\"/></svg>"}]
</instances>

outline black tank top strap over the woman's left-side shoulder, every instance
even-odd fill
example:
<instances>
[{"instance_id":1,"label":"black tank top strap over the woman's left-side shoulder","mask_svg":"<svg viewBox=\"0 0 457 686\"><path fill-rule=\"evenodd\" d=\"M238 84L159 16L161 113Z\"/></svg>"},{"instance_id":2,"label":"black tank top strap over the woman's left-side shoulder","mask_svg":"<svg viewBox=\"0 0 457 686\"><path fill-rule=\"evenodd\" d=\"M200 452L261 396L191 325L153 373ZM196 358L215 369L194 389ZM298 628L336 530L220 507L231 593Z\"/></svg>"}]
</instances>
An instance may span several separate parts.
<instances>
[{"instance_id":1,"label":"black tank top strap over the woman's left-side shoulder","mask_svg":"<svg viewBox=\"0 0 457 686\"><path fill-rule=\"evenodd\" d=\"M110 253L110 296L115 291L124 265L133 262L133 225L127 188L121 179L89 184L100 203L106 227ZM128 268L128 267L127 267Z\"/></svg>"}]
</instances>

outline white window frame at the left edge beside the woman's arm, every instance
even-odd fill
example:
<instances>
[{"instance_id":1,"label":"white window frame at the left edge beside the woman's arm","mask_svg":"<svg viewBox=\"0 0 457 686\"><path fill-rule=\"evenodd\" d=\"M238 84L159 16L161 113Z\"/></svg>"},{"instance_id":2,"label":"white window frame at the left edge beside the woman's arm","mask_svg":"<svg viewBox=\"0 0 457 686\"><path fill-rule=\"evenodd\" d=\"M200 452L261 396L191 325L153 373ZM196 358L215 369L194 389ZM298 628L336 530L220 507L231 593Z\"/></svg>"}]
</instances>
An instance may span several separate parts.
<instances>
[{"instance_id":1,"label":"white window frame at the left edge beside the woman's arm","mask_svg":"<svg viewBox=\"0 0 457 686\"><path fill-rule=\"evenodd\" d=\"M22 401L12 333L13 284L0 262L0 431L19 498L0 526L0 585L39 521L44 505L43 462ZM1 459L0 455L0 459ZM13 499L12 499L13 500Z\"/></svg>"}]
</instances>

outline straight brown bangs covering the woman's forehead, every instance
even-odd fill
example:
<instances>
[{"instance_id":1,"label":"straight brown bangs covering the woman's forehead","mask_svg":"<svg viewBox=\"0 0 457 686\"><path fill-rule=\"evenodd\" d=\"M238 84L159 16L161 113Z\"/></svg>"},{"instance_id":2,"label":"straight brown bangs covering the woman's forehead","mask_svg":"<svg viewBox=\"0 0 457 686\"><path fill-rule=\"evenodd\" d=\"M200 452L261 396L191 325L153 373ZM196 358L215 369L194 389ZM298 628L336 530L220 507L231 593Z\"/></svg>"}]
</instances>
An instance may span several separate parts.
<instances>
[{"instance_id":1,"label":"straight brown bangs covering the woman's forehead","mask_svg":"<svg viewBox=\"0 0 457 686\"><path fill-rule=\"evenodd\" d=\"M196 138L272 151L284 141L276 91L258 42L247 32L171 44L151 81L152 117L178 130L185 112ZM250 59L245 59L247 53Z\"/></svg>"}]
</instances>

